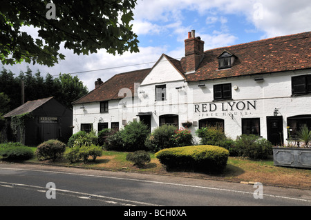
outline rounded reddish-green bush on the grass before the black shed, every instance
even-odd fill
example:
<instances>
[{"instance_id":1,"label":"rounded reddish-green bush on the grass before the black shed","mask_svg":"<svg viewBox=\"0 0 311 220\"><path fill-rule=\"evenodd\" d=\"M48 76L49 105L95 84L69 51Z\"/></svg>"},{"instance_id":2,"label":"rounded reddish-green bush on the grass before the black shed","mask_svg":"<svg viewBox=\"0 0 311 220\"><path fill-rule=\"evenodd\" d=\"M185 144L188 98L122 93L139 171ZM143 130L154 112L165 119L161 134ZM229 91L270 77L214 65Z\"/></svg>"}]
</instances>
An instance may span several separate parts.
<instances>
[{"instance_id":1,"label":"rounded reddish-green bush on the grass before the black shed","mask_svg":"<svg viewBox=\"0 0 311 220\"><path fill-rule=\"evenodd\" d=\"M55 139L51 139L48 141L44 141L39 146L37 146L37 150L35 154L39 160L47 160L51 159L55 161L63 156L66 150L66 145L62 141L58 141Z\"/></svg>"}]
</instances>

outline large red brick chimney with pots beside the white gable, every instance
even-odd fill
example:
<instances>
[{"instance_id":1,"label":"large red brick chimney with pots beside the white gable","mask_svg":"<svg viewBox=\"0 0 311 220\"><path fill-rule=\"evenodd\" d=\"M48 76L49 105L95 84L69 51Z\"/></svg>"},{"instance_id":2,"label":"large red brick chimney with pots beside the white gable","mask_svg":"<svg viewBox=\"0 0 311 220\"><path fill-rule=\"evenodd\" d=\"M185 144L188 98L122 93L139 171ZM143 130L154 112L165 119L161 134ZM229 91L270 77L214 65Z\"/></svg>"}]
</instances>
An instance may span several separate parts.
<instances>
[{"instance_id":1,"label":"large red brick chimney with pots beside the white gable","mask_svg":"<svg viewBox=\"0 0 311 220\"><path fill-rule=\"evenodd\" d=\"M195 36L195 30L188 32L185 39L185 71L195 72L204 57L204 41Z\"/></svg>"}]
</instances>

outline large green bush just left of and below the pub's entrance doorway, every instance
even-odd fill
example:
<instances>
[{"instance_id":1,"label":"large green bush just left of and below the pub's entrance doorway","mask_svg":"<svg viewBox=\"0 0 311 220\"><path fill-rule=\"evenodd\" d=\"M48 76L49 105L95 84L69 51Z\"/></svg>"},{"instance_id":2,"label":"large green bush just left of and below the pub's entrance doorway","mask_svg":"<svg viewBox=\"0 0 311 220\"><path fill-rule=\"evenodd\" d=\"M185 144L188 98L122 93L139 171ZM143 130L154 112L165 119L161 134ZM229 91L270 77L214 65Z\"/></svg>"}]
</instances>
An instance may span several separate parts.
<instances>
[{"instance_id":1,"label":"large green bush just left of and below the pub's entrance doorway","mask_svg":"<svg viewBox=\"0 0 311 220\"><path fill-rule=\"evenodd\" d=\"M149 134L149 129L142 121L133 121L121 130L107 138L106 150L122 150L133 152L145 150L144 141Z\"/></svg>"}]
</instances>

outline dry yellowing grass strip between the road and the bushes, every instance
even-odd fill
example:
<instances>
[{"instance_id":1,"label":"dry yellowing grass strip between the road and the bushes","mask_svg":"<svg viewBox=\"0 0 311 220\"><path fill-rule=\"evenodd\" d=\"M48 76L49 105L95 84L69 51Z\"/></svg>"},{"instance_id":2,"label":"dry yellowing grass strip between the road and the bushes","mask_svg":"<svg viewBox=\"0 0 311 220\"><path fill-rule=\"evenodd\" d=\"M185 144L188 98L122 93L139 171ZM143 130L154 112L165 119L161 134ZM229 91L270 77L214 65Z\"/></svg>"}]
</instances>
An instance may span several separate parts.
<instances>
[{"instance_id":1,"label":"dry yellowing grass strip between the road and the bushes","mask_svg":"<svg viewBox=\"0 0 311 220\"><path fill-rule=\"evenodd\" d=\"M34 148L35 151L35 148ZM227 167L221 174L207 174L199 172L183 172L182 170L167 171L160 161L151 153L151 162L144 168L137 168L133 163L126 161L127 152L103 151L102 157L87 163L83 161L70 163L66 159L59 161L38 161L36 158L28 160L32 163L45 163L59 166L75 166L112 171L145 172L153 174L169 174L182 177L200 179L219 179L235 182L261 182L273 186L289 186L311 190L311 170L277 167L272 157L267 160L250 160L243 157L229 157Z\"/></svg>"}]
</instances>

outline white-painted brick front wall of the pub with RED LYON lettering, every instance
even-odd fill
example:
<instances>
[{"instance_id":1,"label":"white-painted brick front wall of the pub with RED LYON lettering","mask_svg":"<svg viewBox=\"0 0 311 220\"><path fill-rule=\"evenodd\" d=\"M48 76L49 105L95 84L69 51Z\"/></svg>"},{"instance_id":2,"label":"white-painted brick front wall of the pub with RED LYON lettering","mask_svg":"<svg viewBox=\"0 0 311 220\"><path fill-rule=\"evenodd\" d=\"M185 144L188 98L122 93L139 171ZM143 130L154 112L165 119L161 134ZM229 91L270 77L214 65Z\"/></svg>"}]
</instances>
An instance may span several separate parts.
<instances>
[{"instance_id":1,"label":"white-painted brick front wall of the pub with RED LYON lettering","mask_svg":"<svg viewBox=\"0 0 311 220\"><path fill-rule=\"evenodd\" d=\"M93 123L93 128L97 130L97 123L100 121L108 122L109 128L111 122L118 121L122 128L122 120L139 120L138 112L152 112L152 130L159 126L159 117L162 114L178 114L180 127L182 122L186 121L198 122L205 118L219 118L225 120L225 134L232 139L241 135L243 118L260 118L261 136L267 138L266 117L273 116L274 109L277 108L279 115L283 116L285 140L286 119L299 114L311 114L311 95L292 97L291 77L301 74L311 74L311 70L187 83L169 61L162 57L142 81L135 97L131 98L131 94L128 93L130 98L109 101L109 113L100 113L99 102L84 103L84 109L81 109L82 104L73 106L74 132L79 131L81 123ZM254 81L255 77L263 77L264 80ZM202 83L205 83L205 87L199 88L198 84ZM213 101L213 86L222 83L232 83L232 100ZM156 101L156 85L163 84L167 86L167 100ZM236 90L234 86L237 87ZM178 87L182 88L176 89ZM248 106L247 109L247 101L252 104L256 102L256 109L252 106ZM243 103L246 106L241 109ZM202 112L202 104L207 106L207 112ZM210 112L209 104L216 105L217 109ZM196 112L196 105L200 106L200 112ZM230 105L233 106L232 109ZM197 129L198 126L190 128L194 135Z\"/></svg>"}]
</instances>

